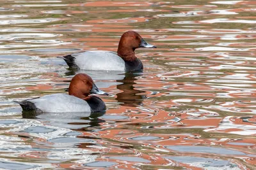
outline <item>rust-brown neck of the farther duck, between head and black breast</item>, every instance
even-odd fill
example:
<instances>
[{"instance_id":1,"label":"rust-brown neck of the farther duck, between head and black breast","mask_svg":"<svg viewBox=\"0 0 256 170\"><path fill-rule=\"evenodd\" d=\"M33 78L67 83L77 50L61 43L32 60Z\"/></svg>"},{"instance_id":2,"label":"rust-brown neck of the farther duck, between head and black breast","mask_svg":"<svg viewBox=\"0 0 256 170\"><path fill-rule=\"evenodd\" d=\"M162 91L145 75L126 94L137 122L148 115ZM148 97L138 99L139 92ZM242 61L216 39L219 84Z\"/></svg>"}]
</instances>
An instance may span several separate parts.
<instances>
[{"instance_id":1,"label":"rust-brown neck of the farther duck, between head and black breast","mask_svg":"<svg viewBox=\"0 0 256 170\"><path fill-rule=\"evenodd\" d=\"M137 59L134 50L135 49L132 49L131 47L119 43L117 54L125 61L134 61Z\"/></svg>"}]
</instances>

